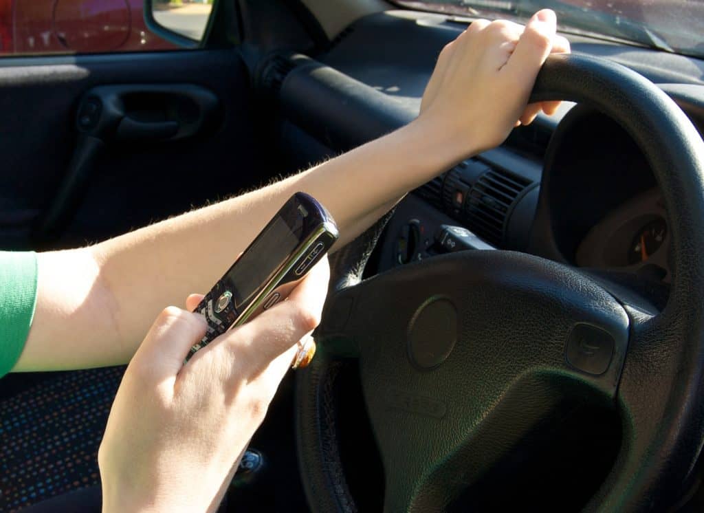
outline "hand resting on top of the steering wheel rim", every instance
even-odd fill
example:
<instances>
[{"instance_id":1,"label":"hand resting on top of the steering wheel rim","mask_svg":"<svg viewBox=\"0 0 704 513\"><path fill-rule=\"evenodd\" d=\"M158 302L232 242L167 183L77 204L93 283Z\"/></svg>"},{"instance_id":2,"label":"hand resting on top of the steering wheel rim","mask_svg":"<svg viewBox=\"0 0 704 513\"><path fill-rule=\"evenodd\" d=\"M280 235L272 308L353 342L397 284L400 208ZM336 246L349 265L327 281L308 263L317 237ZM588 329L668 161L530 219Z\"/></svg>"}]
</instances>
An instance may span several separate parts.
<instances>
[{"instance_id":1,"label":"hand resting on top of the steering wheel rim","mask_svg":"<svg viewBox=\"0 0 704 513\"><path fill-rule=\"evenodd\" d=\"M523 27L510 21L476 20L445 46L428 82L419 122L451 141L458 160L501 144L513 127L532 122L559 102L526 106L541 65L550 53L569 53L555 34L555 13L539 11Z\"/></svg>"}]
</instances>

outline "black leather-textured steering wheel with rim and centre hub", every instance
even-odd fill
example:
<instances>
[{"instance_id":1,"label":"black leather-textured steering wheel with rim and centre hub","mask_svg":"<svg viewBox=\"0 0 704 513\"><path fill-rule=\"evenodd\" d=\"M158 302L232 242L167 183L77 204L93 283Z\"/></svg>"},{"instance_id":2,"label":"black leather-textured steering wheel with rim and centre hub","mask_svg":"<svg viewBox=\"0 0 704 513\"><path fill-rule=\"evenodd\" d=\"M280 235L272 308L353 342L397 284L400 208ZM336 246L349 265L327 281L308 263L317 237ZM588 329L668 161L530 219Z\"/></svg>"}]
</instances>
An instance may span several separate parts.
<instances>
[{"instance_id":1,"label":"black leather-textured steering wheel with rim and centre hub","mask_svg":"<svg viewBox=\"0 0 704 513\"><path fill-rule=\"evenodd\" d=\"M313 510L355 509L334 425L344 406L332 394L339 359L351 355L388 512L446 508L570 395L608 403L622 424L586 509L662 510L693 468L704 440L702 139L658 87L608 61L551 56L531 97L544 100L601 110L643 151L672 232L667 305L654 310L582 270L510 251L442 255L361 281L382 220L335 255L321 354L297 377Z\"/></svg>"}]
</instances>

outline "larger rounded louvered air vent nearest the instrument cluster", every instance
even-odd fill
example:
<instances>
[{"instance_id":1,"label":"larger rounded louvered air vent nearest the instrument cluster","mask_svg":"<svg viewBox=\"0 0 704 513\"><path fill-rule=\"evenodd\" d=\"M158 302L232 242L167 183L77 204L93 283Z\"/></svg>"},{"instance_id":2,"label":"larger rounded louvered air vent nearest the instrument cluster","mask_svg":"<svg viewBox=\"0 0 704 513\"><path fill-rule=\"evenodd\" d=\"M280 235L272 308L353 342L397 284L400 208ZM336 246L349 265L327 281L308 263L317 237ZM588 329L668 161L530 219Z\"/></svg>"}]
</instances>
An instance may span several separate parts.
<instances>
[{"instance_id":1,"label":"larger rounded louvered air vent nearest the instrument cluster","mask_svg":"<svg viewBox=\"0 0 704 513\"><path fill-rule=\"evenodd\" d=\"M531 184L522 177L491 169L474 182L465 203L467 227L494 246L503 243L503 225L515 199Z\"/></svg>"}]
</instances>

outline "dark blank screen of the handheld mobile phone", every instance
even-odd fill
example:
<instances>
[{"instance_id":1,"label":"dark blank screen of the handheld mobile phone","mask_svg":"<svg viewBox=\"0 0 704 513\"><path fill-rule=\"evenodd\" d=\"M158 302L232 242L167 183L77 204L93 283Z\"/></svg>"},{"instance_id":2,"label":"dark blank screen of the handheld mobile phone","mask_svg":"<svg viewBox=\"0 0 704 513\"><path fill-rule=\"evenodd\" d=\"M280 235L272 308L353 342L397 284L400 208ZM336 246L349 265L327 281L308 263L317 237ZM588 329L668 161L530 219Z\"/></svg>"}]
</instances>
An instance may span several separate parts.
<instances>
[{"instance_id":1,"label":"dark blank screen of the handheld mobile phone","mask_svg":"<svg viewBox=\"0 0 704 513\"><path fill-rule=\"evenodd\" d=\"M298 242L282 217L272 220L227 273L225 288L232 292L235 308L253 299L253 294L272 277Z\"/></svg>"}]
</instances>

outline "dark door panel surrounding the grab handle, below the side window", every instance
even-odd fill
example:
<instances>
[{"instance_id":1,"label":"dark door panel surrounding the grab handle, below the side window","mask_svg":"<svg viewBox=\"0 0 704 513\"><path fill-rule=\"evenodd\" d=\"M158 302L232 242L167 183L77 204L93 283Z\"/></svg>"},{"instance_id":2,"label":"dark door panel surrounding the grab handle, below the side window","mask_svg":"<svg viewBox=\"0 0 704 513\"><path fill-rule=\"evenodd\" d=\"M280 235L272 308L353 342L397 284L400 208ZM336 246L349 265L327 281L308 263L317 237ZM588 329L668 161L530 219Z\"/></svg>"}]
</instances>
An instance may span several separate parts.
<instances>
[{"instance_id":1,"label":"dark door panel surrounding the grab handle, below the side window","mask_svg":"<svg viewBox=\"0 0 704 513\"><path fill-rule=\"evenodd\" d=\"M32 224L61 185L89 89L194 84L218 99L207 131L170 144L108 144L59 245L104 239L227 197L278 171L257 137L246 67L233 50L0 61L0 247L32 247Z\"/></svg>"}]
</instances>

